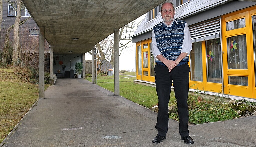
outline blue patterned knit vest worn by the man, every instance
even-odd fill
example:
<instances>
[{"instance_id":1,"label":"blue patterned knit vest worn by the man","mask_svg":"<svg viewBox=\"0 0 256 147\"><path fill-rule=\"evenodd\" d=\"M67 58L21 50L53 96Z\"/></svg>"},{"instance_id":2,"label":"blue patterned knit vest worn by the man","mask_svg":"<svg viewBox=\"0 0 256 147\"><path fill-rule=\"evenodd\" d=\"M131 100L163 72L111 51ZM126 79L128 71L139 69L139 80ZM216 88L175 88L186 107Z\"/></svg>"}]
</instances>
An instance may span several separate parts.
<instances>
[{"instance_id":1,"label":"blue patterned knit vest worn by the man","mask_svg":"<svg viewBox=\"0 0 256 147\"><path fill-rule=\"evenodd\" d=\"M160 22L153 27L157 47L162 55L168 60L174 61L181 54L185 23L185 21L177 20L177 23L174 21L171 27L167 27ZM188 56L181 60L181 62L188 61ZM156 63L163 64L160 60L156 60Z\"/></svg>"}]
</instances>

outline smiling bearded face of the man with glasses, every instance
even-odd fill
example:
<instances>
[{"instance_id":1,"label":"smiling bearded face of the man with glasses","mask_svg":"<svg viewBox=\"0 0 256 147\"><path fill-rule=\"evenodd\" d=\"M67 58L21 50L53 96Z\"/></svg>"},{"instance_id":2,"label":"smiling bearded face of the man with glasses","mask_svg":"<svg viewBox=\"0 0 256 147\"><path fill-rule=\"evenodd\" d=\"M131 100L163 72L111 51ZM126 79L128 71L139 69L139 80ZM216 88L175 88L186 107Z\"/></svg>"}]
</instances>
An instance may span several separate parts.
<instances>
[{"instance_id":1,"label":"smiling bearded face of the man with glasses","mask_svg":"<svg viewBox=\"0 0 256 147\"><path fill-rule=\"evenodd\" d=\"M173 11L172 12L168 12L168 10L170 10L170 9L173 10ZM164 13L163 10L167 10L166 13ZM163 18L164 22L166 22L166 23L172 22L173 18L174 18L174 15L175 15L175 10L173 8L173 5L170 4L170 3L163 4L161 15L162 15L162 18Z\"/></svg>"}]
</instances>

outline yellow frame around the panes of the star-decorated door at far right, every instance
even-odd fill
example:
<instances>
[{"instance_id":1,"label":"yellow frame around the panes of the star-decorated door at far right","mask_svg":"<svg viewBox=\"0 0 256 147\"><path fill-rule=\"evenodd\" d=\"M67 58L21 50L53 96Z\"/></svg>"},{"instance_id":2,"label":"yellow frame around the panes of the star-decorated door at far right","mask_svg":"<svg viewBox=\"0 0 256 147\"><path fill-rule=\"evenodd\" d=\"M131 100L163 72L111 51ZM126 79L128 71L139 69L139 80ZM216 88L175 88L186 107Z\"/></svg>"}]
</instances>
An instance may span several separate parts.
<instances>
[{"instance_id":1,"label":"yellow frame around the panes of the star-decorated door at far right","mask_svg":"<svg viewBox=\"0 0 256 147\"><path fill-rule=\"evenodd\" d=\"M255 7L254 7L255 8ZM252 9L252 8L249 8ZM235 95L247 98L253 98L253 46L251 43L251 28L249 9L244 9L223 15L222 21L222 49L223 49L223 83L224 94ZM226 22L245 18L245 27L226 31ZM247 69L228 69L228 54L227 54L227 38L238 35L246 35L247 47ZM232 85L228 83L228 76L245 76L248 77L248 86ZM255 98L255 97L254 97Z\"/></svg>"}]
</instances>

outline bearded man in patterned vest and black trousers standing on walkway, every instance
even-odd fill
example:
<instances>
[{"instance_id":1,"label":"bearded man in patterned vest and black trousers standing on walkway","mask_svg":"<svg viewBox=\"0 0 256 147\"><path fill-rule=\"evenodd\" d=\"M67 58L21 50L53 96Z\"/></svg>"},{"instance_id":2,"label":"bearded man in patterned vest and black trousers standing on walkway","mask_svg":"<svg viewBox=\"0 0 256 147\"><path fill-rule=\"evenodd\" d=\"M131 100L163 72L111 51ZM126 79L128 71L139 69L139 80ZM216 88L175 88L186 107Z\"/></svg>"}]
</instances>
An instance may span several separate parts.
<instances>
[{"instance_id":1,"label":"bearded man in patterned vest and black trousers standing on walkway","mask_svg":"<svg viewBox=\"0 0 256 147\"><path fill-rule=\"evenodd\" d=\"M153 27L152 53L156 66L156 92L158 96L158 114L155 128L157 136L153 143L160 143L166 139L168 131L168 103L170 100L171 85L174 86L179 113L179 133L186 144L193 144L188 131L188 88L189 53L192 49L188 24L174 19L175 9L171 2L164 2L161 6L163 21Z\"/></svg>"}]
</instances>

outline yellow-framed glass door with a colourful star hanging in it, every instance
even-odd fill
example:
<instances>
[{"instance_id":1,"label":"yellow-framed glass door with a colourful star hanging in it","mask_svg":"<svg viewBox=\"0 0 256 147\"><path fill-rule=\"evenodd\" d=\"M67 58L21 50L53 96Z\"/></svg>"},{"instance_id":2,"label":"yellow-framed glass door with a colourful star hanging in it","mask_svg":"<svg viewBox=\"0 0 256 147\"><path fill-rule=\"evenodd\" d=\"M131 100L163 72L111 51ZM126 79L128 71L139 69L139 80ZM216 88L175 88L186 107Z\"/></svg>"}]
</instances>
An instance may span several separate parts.
<instances>
[{"instance_id":1,"label":"yellow-framed glass door with a colourful star hanging in it","mask_svg":"<svg viewBox=\"0 0 256 147\"><path fill-rule=\"evenodd\" d=\"M224 94L253 98L253 61L246 13L228 14L222 23Z\"/></svg>"}]
</instances>

